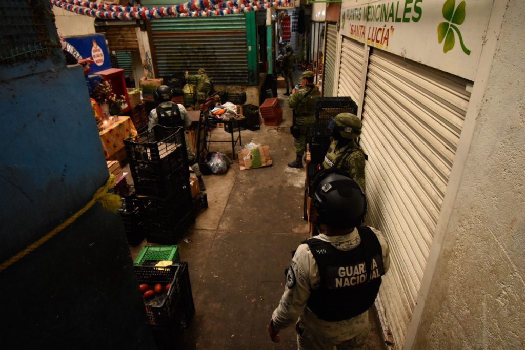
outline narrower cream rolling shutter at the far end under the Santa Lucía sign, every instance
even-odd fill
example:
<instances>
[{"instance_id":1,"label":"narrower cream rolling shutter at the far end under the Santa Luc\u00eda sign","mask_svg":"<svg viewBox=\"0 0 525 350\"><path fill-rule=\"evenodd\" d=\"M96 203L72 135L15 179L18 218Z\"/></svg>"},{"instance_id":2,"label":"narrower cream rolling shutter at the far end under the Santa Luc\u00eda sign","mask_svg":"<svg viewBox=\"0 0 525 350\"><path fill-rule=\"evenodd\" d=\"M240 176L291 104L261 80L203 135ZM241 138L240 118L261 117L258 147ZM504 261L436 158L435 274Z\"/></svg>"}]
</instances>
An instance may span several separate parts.
<instances>
[{"instance_id":1,"label":"narrower cream rolling shutter at the far end under the Santa Luc\u00eda sign","mask_svg":"<svg viewBox=\"0 0 525 350\"><path fill-rule=\"evenodd\" d=\"M350 96L354 102L358 103L363 62L363 44L343 37L337 96Z\"/></svg>"}]
</instances>

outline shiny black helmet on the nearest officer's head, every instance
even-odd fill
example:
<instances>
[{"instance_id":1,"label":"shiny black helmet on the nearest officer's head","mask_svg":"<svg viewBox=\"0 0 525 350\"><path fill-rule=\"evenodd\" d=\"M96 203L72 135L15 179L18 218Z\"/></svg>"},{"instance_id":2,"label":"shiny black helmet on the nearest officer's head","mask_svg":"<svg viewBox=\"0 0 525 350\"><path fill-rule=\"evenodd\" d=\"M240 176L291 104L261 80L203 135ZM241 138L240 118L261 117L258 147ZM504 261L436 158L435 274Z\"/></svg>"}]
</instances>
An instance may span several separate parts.
<instances>
[{"instance_id":1,"label":"shiny black helmet on the nearest officer's head","mask_svg":"<svg viewBox=\"0 0 525 350\"><path fill-rule=\"evenodd\" d=\"M366 197L352 178L336 168L325 169L313 181L313 201L321 224L359 227L366 215Z\"/></svg>"}]
</instances>

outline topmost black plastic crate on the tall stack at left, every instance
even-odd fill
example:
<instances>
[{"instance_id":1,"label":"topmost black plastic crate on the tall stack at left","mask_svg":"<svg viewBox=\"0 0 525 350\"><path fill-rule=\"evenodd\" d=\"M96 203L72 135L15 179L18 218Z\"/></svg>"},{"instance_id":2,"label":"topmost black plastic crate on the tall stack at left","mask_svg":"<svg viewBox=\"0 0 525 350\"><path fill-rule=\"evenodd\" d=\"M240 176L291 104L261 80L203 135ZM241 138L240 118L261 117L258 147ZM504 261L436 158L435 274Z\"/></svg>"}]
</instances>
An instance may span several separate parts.
<instances>
[{"instance_id":1,"label":"topmost black plastic crate on the tall stack at left","mask_svg":"<svg viewBox=\"0 0 525 350\"><path fill-rule=\"evenodd\" d=\"M166 128L154 125L152 129L124 140L124 147L130 162L161 162L178 149L186 154L184 128Z\"/></svg>"}]
</instances>

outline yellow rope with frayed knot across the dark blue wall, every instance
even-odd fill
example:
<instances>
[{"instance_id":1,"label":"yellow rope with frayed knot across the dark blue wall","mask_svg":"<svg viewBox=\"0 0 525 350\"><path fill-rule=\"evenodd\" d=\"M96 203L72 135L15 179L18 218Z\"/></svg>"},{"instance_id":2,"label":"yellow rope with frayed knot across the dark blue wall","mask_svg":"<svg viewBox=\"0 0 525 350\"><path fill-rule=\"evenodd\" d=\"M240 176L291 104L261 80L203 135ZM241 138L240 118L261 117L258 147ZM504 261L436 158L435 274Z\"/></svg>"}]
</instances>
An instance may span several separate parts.
<instances>
[{"instance_id":1,"label":"yellow rope with frayed knot across the dark blue wall","mask_svg":"<svg viewBox=\"0 0 525 350\"><path fill-rule=\"evenodd\" d=\"M106 184L103 185L102 187L100 187L99 189L97 189L97 192L95 192L95 194L93 195L91 200L85 206L83 206L82 209L77 211L77 213L73 214L66 221L62 222L62 224L60 224L57 227L55 227L55 229L50 231L44 237L40 238L39 240L37 240L33 244L27 246L24 250L19 251L17 254L15 254L10 259L4 261L0 265L0 271L4 271L5 269L7 269L9 266L14 264L18 260L24 258L31 251L33 251L33 250L37 249L38 247L40 247L41 245L43 245L50 238L52 238L56 234L58 234L58 232L60 232L61 230L65 229L66 227L71 225L82 214L86 213L86 211L89 208L91 208L93 205L95 205L95 203L97 203L97 202L100 203L100 205L102 205L102 207L104 209L106 209L106 210L114 211L114 212L118 211L119 207L120 207L120 197L118 195L116 195L116 194L107 193L110 188L113 188L115 186L115 184L116 184L115 176L114 175L110 175L109 178L108 178L108 181L106 182Z\"/></svg>"}]
</instances>

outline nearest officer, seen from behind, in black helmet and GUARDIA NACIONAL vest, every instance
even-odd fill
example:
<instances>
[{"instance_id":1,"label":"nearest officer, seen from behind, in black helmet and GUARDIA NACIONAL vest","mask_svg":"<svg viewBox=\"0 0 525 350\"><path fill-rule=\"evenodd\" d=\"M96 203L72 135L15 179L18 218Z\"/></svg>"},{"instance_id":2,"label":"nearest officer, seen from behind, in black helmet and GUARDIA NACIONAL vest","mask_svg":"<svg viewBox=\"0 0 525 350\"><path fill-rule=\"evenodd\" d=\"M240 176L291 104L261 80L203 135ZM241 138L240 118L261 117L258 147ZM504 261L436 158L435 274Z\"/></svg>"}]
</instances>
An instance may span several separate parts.
<instances>
[{"instance_id":1,"label":"nearest officer, seen from behind, in black helmet and GUARDIA NACIONAL vest","mask_svg":"<svg viewBox=\"0 0 525 350\"><path fill-rule=\"evenodd\" d=\"M297 322L299 349L363 349L368 309L390 267L388 245L380 231L361 226L366 199L353 179L328 169L314 185L324 233L303 241L293 254L268 332L279 342L279 331Z\"/></svg>"}]
</instances>

